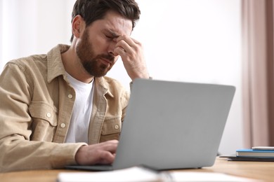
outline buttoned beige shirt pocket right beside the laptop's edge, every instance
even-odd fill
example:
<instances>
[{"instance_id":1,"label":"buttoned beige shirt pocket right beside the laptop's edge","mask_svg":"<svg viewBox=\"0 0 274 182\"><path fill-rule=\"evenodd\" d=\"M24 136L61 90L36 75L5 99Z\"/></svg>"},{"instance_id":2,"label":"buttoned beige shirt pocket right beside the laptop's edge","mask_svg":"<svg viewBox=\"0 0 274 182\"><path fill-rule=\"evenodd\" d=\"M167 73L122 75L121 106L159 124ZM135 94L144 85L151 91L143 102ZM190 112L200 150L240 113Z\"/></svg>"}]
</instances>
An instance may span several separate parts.
<instances>
[{"instance_id":1,"label":"buttoned beige shirt pocket right beside the laptop's edge","mask_svg":"<svg viewBox=\"0 0 274 182\"><path fill-rule=\"evenodd\" d=\"M120 117L105 118L101 131L100 142L119 139L122 121Z\"/></svg>"}]
</instances>

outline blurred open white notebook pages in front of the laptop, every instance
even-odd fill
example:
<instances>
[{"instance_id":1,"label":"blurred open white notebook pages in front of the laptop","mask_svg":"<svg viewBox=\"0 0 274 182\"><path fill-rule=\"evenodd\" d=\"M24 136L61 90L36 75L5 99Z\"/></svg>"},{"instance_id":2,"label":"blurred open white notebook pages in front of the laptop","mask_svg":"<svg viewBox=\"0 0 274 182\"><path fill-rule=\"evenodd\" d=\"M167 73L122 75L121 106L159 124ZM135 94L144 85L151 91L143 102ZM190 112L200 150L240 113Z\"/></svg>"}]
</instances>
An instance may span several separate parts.
<instances>
[{"instance_id":1,"label":"blurred open white notebook pages in front of the laptop","mask_svg":"<svg viewBox=\"0 0 274 182\"><path fill-rule=\"evenodd\" d=\"M256 181L214 172L154 172L144 167L131 167L112 172L62 172L58 182L132 182L132 181Z\"/></svg>"}]
</instances>

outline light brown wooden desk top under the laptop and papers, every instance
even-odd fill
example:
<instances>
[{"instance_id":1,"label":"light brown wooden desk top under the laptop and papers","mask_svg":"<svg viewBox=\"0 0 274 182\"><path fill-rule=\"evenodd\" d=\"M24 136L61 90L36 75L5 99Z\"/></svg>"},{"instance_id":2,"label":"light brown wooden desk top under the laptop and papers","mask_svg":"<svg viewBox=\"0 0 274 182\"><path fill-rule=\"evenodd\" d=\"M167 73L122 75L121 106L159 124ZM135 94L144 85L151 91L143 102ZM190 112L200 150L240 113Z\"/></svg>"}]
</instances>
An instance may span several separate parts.
<instances>
[{"instance_id":1,"label":"light brown wooden desk top under the laptop and papers","mask_svg":"<svg viewBox=\"0 0 274 182\"><path fill-rule=\"evenodd\" d=\"M234 176L242 176L263 181L274 181L274 162L235 162L226 158L216 158L213 167L202 169L183 169L188 172L221 172ZM20 182L56 182L60 172L75 172L70 170L37 170L25 172L0 173L0 181ZM79 172L79 171L77 171Z\"/></svg>"}]
</instances>

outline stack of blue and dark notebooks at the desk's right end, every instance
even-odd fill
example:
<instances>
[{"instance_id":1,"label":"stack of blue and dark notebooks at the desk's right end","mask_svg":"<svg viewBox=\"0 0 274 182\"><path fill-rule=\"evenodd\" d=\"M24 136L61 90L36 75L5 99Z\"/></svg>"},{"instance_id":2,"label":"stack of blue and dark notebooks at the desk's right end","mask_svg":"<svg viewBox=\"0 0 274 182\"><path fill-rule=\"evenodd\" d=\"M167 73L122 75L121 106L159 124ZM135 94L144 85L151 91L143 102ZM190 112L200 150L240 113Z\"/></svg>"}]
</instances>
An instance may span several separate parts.
<instances>
[{"instance_id":1,"label":"stack of blue and dark notebooks at the desk's right end","mask_svg":"<svg viewBox=\"0 0 274 182\"><path fill-rule=\"evenodd\" d=\"M274 147L272 146L254 146L247 149L239 149L236 155L221 156L233 161L261 161L274 162Z\"/></svg>"}]
</instances>

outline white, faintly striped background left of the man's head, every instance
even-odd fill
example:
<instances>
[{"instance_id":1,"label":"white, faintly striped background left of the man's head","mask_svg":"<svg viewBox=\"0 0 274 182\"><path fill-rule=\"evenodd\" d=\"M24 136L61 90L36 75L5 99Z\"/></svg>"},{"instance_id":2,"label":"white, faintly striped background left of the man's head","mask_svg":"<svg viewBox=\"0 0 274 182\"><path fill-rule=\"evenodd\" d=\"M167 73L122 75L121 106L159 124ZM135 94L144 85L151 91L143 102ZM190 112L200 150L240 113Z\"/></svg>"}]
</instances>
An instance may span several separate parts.
<instances>
[{"instance_id":1,"label":"white, faintly striped background left of the man's head","mask_svg":"<svg viewBox=\"0 0 274 182\"><path fill-rule=\"evenodd\" d=\"M74 0L1 0L1 55L4 64L18 57L46 53L58 43L70 43Z\"/></svg>"}]
</instances>

